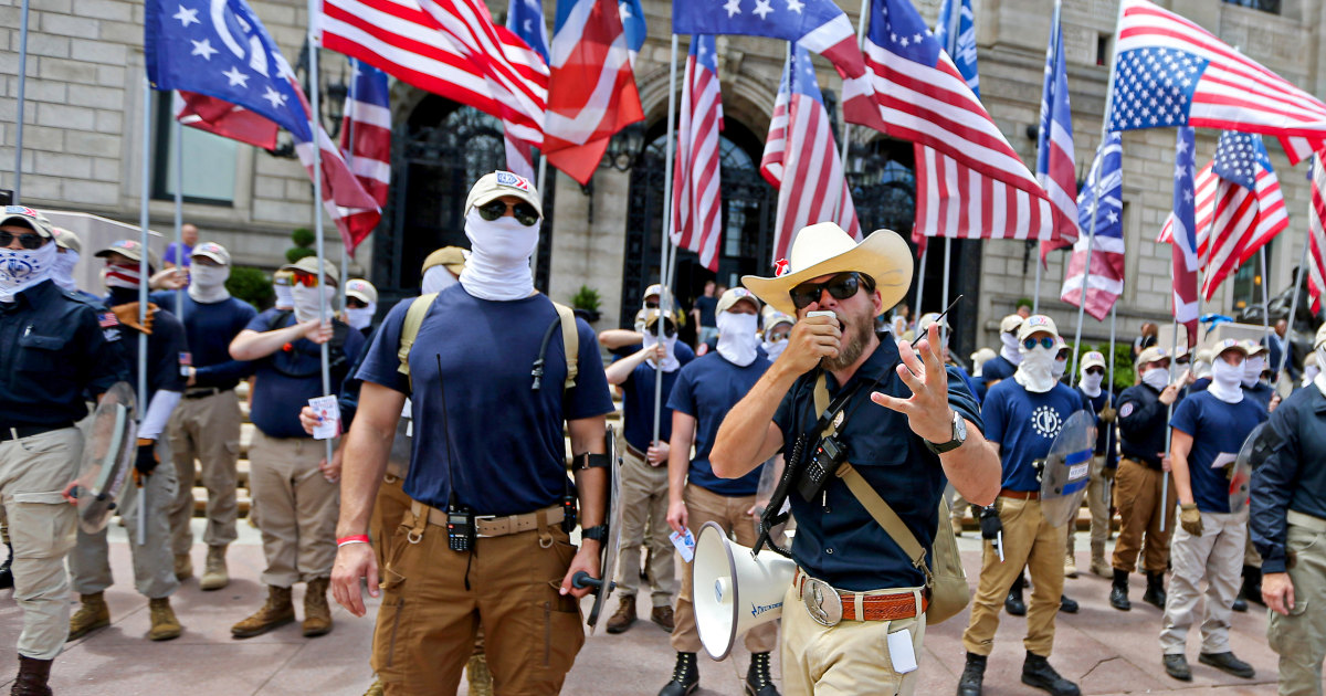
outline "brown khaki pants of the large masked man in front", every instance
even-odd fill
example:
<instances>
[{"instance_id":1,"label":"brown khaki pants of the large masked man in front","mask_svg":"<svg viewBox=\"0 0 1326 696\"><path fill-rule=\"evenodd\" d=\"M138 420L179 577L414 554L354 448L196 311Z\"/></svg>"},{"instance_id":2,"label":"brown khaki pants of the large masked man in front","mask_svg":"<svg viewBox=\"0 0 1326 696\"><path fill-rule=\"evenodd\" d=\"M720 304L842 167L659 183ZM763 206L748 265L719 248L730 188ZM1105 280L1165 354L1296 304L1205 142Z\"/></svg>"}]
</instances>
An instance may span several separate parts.
<instances>
[{"instance_id":1,"label":"brown khaki pants of the large masked man in front","mask_svg":"<svg viewBox=\"0 0 1326 696\"><path fill-rule=\"evenodd\" d=\"M455 693L480 623L493 693L558 693L585 643L579 602L558 594L574 555L561 525L452 551L444 528L407 510L387 545L373 635L386 693Z\"/></svg>"}]
</instances>

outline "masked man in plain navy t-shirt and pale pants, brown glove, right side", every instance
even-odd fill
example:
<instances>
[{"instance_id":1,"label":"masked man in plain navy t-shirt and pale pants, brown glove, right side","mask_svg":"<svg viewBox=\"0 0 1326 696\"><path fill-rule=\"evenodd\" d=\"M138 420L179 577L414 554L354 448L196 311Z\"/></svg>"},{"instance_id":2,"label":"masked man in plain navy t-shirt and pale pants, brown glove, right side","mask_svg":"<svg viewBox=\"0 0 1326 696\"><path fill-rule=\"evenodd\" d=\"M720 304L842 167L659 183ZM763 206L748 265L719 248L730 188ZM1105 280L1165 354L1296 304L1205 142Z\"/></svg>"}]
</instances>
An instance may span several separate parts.
<instances>
[{"instance_id":1,"label":"masked man in plain navy t-shirt and pale pants, brown glove, right side","mask_svg":"<svg viewBox=\"0 0 1326 696\"><path fill-rule=\"evenodd\" d=\"M1170 676L1191 680L1184 655L1188 628L1207 583L1199 660L1252 679L1253 668L1229 650L1229 615L1248 542L1248 510L1229 512L1229 469L1266 410L1242 392L1248 347L1232 338L1212 346L1211 387L1179 403L1170 420L1170 459L1180 524L1170 548L1174 575L1164 607L1160 648Z\"/></svg>"}]
</instances>

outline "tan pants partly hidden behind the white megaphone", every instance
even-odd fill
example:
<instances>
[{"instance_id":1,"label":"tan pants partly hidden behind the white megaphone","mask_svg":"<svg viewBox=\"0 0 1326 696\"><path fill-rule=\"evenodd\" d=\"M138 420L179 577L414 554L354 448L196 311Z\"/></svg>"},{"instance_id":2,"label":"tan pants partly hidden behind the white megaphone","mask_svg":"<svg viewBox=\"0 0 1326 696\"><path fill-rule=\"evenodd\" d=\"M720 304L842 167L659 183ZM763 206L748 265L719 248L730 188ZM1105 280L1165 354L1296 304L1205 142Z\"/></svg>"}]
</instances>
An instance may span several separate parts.
<instances>
[{"instance_id":1,"label":"tan pants partly hidden behind the white megaphone","mask_svg":"<svg viewBox=\"0 0 1326 696\"><path fill-rule=\"evenodd\" d=\"M754 517L747 510L754 505L754 496L727 497L693 484L686 484L686 513L691 533L700 536L704 522L716 522L743 546L754 546ZM676 626L672 628L672 650L699 652L700 632L695 627L695 605L691 602L691 563L682 563L682 591L676 595ZM745 634L751 652L770 652L778 646L778 624L769 622Z\"/></svg>"}]
</instances>

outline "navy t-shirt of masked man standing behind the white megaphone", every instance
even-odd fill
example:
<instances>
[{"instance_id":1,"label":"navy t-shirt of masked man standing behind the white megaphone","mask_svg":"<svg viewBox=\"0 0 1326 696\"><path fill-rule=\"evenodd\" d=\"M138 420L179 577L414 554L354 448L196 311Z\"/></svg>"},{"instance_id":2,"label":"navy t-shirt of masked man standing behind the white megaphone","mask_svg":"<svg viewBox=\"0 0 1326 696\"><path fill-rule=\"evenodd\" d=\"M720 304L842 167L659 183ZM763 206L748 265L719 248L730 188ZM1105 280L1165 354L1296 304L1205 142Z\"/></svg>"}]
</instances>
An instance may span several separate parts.
<instances>
[{"instance_id":1,"label":"navy t-shirt of masked man standing behind the white megaphone","mask_svg":"<svg viewBox=\"0 0 1326 696\"><path fill-rule=\"evenodd\" d=\"M719 479L709 465L709 451L723 418L751 391L769 365L764 349L756 349L754 361L745 367L715 351L678 370L667 406L695 418L695 459L691 460L690 483L727 497L754 494L760 485L758 467L740 479Z\"/></svg>"}]
</instances>

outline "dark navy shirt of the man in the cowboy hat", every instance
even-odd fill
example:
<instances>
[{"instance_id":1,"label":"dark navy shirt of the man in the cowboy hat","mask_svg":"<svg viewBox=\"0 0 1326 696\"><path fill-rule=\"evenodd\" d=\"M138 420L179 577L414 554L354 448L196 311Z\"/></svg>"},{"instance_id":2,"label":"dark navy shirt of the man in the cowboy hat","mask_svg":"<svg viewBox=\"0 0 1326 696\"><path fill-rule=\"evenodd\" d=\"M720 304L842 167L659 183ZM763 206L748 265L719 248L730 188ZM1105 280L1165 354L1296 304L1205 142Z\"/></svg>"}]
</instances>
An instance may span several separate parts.
<instances>
[{"instance_id":1,"label":"dark navy shirt of the man in the cowboy hat","mask_svg":"<svg viewBox=\"0 0 1326 696\"><path fill-rule=\"evenodd\" d=\"M865 382L843 410L847 415L838 439L847 448L847 461L898 513L916 541L931 549L939 525L939 497L947 483L939 455L927 449L922 439L911 432L907 416L870 403L871 391L904 399L911 396L911 388L894 370L898 362L896 343L888 334L880 334L879 347L846 384L839 386L831 374L826 374L825 386L833 400L843 388L855 388L857 383ZM947 374L948 404L981 430L976 399L952 367ZM879 383L871 387L875 379ZM812 434L815 424L813 371L800 378L784 396L773 423L782 431L784 453L788 456L792 456L798 434L808 434L808 449L818 440L818 434ZM806 501L796 492L788 500L797 518L792 555L810 575L851 591L916 587L926 582L920 570L857 501L842 479L831 477L819 500Z\"/></svg>"}]
</instances>

